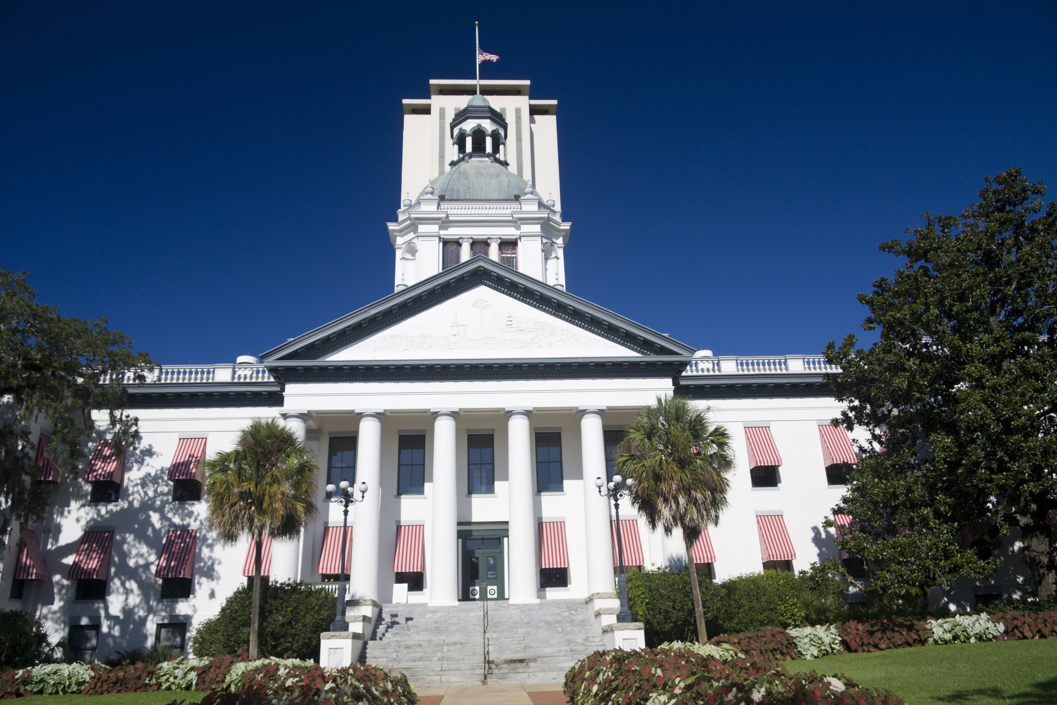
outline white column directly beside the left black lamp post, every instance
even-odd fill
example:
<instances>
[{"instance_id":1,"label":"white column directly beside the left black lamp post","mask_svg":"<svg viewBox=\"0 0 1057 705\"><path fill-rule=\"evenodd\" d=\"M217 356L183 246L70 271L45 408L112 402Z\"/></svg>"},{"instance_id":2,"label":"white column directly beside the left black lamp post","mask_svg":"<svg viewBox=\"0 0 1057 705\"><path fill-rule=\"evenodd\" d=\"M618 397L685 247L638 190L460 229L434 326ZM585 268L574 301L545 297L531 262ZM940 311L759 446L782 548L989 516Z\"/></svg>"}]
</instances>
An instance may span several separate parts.
<instances>
[{"instance_id":1,"label":"white column directly beside the left black lamp post","mask_svg":"<svg viewBox=\"0 0 1057 705\"><path fill-rule=\"evenodd\" d=\"M382 409L357 409L356 478L367 483L367 496L356 505L349 570L349 599L373 599L378 595L378 537L382 522Z\"/></svg>"}]
</instances>

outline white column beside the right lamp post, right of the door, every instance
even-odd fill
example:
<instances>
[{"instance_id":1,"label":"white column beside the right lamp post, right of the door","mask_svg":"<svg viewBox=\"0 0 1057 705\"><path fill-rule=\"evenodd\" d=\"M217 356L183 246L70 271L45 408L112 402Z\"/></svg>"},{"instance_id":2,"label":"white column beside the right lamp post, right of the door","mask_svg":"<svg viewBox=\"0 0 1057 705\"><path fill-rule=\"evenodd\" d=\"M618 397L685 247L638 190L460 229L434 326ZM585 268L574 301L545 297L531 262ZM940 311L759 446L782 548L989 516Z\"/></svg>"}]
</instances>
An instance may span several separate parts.
<instances>
[{"instance_id":1,"label":"white column beside the right lamp post, right of the door","mask_svg":"<svg viewBox=\"0 0 1057 705\"><path fill-rule=\"evenodd\" d=\"M581 406L580 452L583 459L583 536L588 546L588 594L613 592L613 545L609 499L598 496L595 478L606 480L604 406Z\"/></svg>"}]
</instances>

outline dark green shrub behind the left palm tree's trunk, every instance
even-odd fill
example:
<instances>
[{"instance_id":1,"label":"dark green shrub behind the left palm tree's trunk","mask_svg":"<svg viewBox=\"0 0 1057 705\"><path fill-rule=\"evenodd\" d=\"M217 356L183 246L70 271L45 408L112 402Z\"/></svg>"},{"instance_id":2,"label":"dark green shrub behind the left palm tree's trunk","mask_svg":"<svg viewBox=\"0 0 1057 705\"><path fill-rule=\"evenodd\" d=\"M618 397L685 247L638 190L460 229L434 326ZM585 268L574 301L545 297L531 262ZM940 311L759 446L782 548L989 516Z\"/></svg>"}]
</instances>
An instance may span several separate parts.
<instances>
[{"instance_id":1,"label":"dark green shrub behind the left palm tree's trunk","mask_svg":"<svg viewBox=\"0 0 1057 705\"><path fill-rule=\"evenodd\" d=\"M249 650L249 607L245 586L224 600L216 617L205 619L191 637L196 656L235 655ZM261 589L260 653L280 658L319 660L319 632L334 619L334 595L324 588L284 581Z\"/></svg>"}]
</instances>

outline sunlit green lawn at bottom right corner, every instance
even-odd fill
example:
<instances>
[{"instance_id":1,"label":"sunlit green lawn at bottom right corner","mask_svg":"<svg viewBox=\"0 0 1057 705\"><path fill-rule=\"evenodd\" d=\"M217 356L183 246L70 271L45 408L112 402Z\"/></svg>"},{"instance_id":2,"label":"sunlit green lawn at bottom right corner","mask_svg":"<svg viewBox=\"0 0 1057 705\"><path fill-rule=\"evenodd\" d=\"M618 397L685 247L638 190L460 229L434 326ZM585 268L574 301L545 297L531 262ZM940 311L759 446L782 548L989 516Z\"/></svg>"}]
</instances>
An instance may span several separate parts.
<instances>
[{"instance_id":1,"label":"sunlit green lawn at bottom right corner","mask_svg":"<svg viewBox=\"0 0 1057 705\"><path fill-rule=\"evenodd\" d=\"M907 705L1057 704L1057 639L949 644L789 661L790 671L846 673Z\"/></svg>"}]
</instances>

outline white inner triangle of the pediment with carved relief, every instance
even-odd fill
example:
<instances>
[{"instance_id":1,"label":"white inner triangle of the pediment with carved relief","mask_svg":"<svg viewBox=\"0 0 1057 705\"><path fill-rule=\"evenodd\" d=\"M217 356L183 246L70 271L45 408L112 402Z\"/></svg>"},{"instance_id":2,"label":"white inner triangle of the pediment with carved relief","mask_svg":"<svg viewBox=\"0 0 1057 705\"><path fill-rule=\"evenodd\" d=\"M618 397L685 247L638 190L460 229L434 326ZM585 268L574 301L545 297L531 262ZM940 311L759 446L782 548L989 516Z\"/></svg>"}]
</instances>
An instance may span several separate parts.
<instances>
[{"instance_id":1,"label":"white inner triangle of the pediment with carved relief","mask_svg":"<svg viewBox=\"0 0 1057 705\"><path fill-rule=\"evenodd\" d=\"M639 356L484 284L327 355L327 360Z\"/></svg>"}]
</instances>

